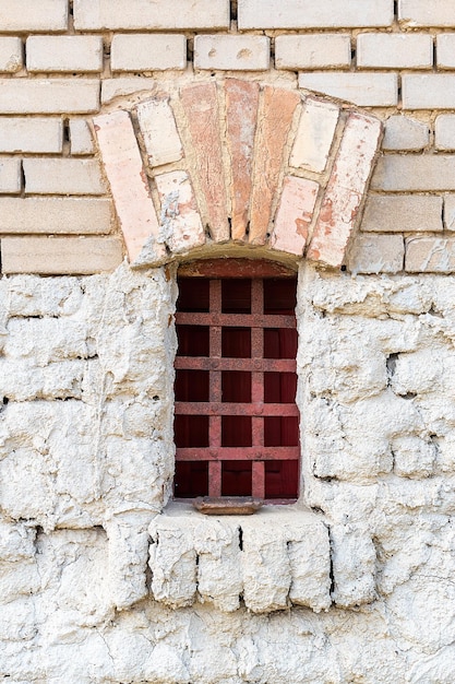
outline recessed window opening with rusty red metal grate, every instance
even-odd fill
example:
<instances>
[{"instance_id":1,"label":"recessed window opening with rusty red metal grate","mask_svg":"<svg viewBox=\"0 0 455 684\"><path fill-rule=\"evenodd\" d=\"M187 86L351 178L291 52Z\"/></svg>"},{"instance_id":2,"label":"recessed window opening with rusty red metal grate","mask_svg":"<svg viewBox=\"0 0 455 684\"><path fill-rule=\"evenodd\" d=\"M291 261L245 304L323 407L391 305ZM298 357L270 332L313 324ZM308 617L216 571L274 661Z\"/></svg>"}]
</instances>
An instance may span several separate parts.
<instances>
[{"instance_id":1,"label":"recessed window opening with rusty red metal grate","mask_svg":"<svg viewBox=\"0 0 455 684\"><path fill-rule=\"evenodd\" d=\"M176 498L296 500L295 274L213 260L181 268L178 286Z\"/></svg>"}]
</instances>

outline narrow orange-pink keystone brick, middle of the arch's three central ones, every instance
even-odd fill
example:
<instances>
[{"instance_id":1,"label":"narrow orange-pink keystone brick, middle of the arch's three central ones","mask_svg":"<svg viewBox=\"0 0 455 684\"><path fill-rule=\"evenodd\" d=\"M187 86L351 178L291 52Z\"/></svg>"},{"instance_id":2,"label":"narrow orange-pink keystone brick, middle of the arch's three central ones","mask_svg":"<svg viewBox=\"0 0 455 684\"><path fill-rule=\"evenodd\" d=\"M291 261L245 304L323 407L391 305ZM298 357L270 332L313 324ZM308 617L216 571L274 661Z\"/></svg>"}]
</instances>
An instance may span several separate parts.
<instances>
[{"instance_id":1,"label":"narrow orange-pink keystone brick, middle of the arch's three central ones","mask_svg":"<svg viewBox=\"0 0 455 684\"><path fill-rule=\"evenodd\" d=\"M227 135L231 164L234 240L246 239L251 196L254 133L258 121L259 85L249 81L226 81Z\"/></svg>"}]
</instances>

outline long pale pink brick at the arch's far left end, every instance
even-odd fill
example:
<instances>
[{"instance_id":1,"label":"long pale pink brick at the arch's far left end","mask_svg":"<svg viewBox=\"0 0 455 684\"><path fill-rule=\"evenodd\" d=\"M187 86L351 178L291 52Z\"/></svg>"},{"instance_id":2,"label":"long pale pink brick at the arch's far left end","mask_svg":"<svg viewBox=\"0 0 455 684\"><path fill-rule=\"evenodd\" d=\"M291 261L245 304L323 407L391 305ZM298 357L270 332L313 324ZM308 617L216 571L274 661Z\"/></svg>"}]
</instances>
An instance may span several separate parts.
<instances>
[{"instance_id":1,"label":"long pale pink brick at the arch's far left end","mask_svg":"<svg viewBox=\"0 0 455 684\"><path fill-rule=\"evenodd\" d=\"M153 243L152 259L159 261L166 249L156 241L158 220L130 116L116 111L96 117L94 125L130 261L146 241Z\"/></svg>"}]
</instances>

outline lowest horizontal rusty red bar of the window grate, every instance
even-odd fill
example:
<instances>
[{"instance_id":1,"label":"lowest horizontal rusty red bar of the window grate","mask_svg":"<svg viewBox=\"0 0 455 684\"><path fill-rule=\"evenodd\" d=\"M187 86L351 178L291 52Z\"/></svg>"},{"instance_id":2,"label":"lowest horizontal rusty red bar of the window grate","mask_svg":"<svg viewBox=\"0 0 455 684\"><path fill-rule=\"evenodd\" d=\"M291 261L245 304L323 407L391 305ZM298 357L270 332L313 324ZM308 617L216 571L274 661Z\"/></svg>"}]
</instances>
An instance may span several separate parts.
<instances>
[{"instance_id":1,"label":"lowest horizontal rusty red bar of the window grate","mask_svg":"<svg viewBox=\"0 0 455 684\"><path fill-rule=\"evenodd\" d=\"M297 460L300 447L180 447L178 461L287 461Z\"/></svg>"}]
</instances>

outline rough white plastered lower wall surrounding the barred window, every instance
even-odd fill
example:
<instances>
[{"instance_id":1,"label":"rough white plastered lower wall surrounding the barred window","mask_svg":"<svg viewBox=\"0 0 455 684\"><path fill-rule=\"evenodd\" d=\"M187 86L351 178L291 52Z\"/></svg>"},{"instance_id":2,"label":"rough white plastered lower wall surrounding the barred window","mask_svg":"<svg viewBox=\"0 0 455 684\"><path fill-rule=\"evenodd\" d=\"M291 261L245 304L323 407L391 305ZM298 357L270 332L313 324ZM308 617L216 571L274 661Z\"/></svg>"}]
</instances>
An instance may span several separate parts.
<instances>
[{"instance_id":1,"label":"rough white plastered lower wall surrounding the barred window","mask_svg":"<svg viewBox=\"0 0 455 684\"><path fill-rule=\"evenodd\" d=\"M235 604L232 520L178 547L177 561L199 557L192 605L170 605L181 583L161 601L147 569L153 530L175 521L160 515L173 465L172 282L164 269L125 267L0 282L1 676L453 684L455 280L302 267L304 491L294 515L311 507L304 515L330 530L333 603L286 608L298 586L287 599L277 528L267 539L251 518L244 600L268 601L263 614ZM221 556L231 575L214 600L207 579Z\"/></svg>"}]
</instances>

